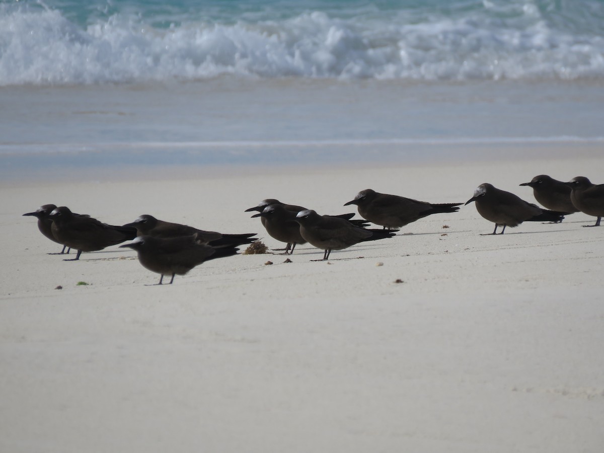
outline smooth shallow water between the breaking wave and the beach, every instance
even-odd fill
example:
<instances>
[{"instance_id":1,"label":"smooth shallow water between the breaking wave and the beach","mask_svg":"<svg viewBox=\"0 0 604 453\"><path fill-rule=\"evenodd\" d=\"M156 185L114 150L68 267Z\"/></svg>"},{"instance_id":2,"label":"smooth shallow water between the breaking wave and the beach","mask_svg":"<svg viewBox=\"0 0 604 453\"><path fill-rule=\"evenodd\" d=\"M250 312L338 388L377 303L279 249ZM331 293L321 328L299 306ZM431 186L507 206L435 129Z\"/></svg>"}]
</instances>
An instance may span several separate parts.
<instances>
[{"instance_id":1,"label":"smooth shallow water between the breaking wave and the beach","mask_svg":"<svg viewBox=\"0 0 604 453\"><path fill-rule=\"evenodd\" d=\"M234 77L4 87L0 172L14 178L96 165L422 162L495 145L510 155L569 143L597 149L604 145L602 88Z\"/></svg>"}]
</instances>

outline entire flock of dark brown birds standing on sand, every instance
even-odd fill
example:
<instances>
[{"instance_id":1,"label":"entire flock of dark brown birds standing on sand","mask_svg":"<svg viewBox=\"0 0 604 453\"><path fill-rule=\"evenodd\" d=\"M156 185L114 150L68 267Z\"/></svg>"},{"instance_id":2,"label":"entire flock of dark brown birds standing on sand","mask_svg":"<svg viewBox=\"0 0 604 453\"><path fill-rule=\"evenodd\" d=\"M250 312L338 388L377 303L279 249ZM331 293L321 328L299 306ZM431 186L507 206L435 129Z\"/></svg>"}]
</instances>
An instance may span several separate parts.
<instances>
[{"instance_id":1,"label":"entire flock of dark brown birds standing on sand","mask_svg":"<svg viewBox=\"0 0 604 453\"><path fill-rule=\"evenodd\" d=\"M489 234L503 234L506 226L518 226L522 222L562 222L564 216L579 211L597 217L595 225L583 226L600 226L604 216L604 184L592 184L584 176L562 182L540 175L520 185L532 187L535 199L547 209L487 183L479 185L465 204L475 202L478 213L495 223L495 230ZM266 199L246 212L257 211L252 217L260 217L269 236L287 244L276 250L291 255L296 245L310 243L324 250L323 259L316 260L323 261L329 259L332 250L392 237L402 226L431 214L454 213L462 203L432 204L367 189L346 205L356 205L363 219L352 219L355 214L322 216L276 199ZM171 284L175 275L184 275L207 260L234 255L239 246L257 240L255 233L223 234L198 230L147 214L121 226L108 225L56 205L43 205L35 212L23 215L37 217L40 232L63 245L58 254L65 253L66 248L66 253L72 248L77 250L75 258L65 261L79 260L82 252L98 251L131 240L120 247L137 251L144 268L161 274L158 284L162 284L164 275L172 275ZM368 222L382 226L382 229L367 228ZM498 226L503 227L500 233L496 233Z\"/></svg>"}]
</instances>

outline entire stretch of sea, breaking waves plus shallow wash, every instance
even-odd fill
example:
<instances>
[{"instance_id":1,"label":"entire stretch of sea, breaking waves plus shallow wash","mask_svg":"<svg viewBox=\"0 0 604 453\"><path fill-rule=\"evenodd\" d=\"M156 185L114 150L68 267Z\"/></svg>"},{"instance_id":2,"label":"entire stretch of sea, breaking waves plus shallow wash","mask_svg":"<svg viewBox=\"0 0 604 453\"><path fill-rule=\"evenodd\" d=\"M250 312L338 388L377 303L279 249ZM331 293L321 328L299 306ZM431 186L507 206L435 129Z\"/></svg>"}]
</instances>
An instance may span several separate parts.
<instances>
[{"instance_id":1,"label":"entire stretch of sea, breaking waves plus shallow wash","mask_svg":"<svg viewBox=\"0 0 604 453\"><path fill-rule=\"evenodd\" d=\"M598 146L604 2L0 1L0 105L10 171Z\"/></svg>"}]
</instances>

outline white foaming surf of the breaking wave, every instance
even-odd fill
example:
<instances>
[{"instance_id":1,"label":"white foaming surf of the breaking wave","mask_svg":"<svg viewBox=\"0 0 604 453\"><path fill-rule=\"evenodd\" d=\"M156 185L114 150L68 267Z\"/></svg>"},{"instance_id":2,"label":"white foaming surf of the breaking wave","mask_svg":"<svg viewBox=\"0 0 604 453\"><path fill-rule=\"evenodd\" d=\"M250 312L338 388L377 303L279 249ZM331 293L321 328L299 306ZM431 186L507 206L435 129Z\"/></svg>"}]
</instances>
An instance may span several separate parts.
<instances>
[{"instance_id":1,"label":"white foaming surf of the breaking wave","mask_svg":"<svg viewBox=\"0 0 604 453\"><path fill-rule=\"evenodd\" d=\"M503 7L499 7L503 8ZM518 8L518 5L516 5ZM486 10L489 4L486 3ZM118 13L85 26L59 10L0 8L0 86L310 77L402 80L604 79L601 30L559 28L524 4L411 18L202 20L153 27Z\"/></svg>"}]
</instances>

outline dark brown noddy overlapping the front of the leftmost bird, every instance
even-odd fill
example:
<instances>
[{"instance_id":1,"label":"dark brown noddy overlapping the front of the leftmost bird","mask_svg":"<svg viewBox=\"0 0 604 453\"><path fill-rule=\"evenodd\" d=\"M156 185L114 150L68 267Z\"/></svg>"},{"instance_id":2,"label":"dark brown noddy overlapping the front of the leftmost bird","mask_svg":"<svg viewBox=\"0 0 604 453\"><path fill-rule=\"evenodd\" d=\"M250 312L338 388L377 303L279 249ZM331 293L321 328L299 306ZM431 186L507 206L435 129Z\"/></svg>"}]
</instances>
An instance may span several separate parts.
<instances>
[{"instance_id":1,"label":"dark brown noddy overlapping the front of the leftmost bird","mask_svg":"<svg viewBox=\"0 0 604 453\"><path fill-rule=\"evenodd\" d=\"M92 217L74 215L65 206L54 209L50 218L53 220L52 231L57 241L77 249L76 257L65 261L76 261L80 259L82 252L102 250L137 237L137 230L132 226L108 225Z\"/></svg>"}]
</instances>

